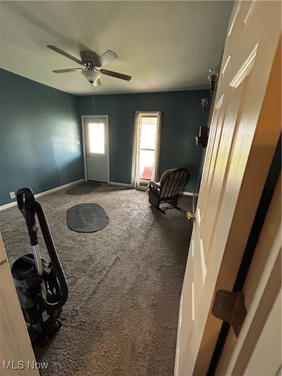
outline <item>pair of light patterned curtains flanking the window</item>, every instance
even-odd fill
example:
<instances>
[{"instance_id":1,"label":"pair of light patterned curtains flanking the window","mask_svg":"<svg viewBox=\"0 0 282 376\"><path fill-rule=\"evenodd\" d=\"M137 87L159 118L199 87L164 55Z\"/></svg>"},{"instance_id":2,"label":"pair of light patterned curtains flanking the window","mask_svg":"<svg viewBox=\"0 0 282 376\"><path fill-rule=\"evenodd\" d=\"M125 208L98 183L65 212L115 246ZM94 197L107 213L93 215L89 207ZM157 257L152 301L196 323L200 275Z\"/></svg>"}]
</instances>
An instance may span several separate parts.
<instances>
[{"instance_id":1,"label":"pair of light patterned curtains flanking the window","mask_svg":"<svg viewBox=\"0 0 282 376\"><path fill-rule=\"evenodd\" d=\"M141 141L141 111L135 113L134 136L133 136L133 153L132 153L132 174L131 185L134 188L140 187L140 141ZM155 141L155 157L154 168L152 173L152 180L159 181L159 160L160 160L160 146L161 146L161 124L162 112L158 111L157 115L157 130Z\"/></svg>"}]
</instances>

